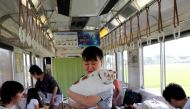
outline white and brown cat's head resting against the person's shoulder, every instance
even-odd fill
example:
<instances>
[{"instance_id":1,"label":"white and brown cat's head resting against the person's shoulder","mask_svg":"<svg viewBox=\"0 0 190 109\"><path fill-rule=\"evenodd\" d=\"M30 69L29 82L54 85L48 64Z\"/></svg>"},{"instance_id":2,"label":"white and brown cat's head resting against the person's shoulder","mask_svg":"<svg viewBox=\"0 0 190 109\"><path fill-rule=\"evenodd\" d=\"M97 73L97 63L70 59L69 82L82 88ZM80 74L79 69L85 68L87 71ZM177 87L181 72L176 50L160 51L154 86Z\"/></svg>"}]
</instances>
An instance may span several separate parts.
<instances>
[{"instance_id":1,"label":"white and brown cat's head resting against the person's shoulder","mask_svg":"<svg viewBox=\"0 0 190 109\"><path fill-rule=\"evenodd\" d=\"M104 84L113 83L116 79L116 72L113 70L100 69L98 75Z\"/></svg>"}]
</instances>

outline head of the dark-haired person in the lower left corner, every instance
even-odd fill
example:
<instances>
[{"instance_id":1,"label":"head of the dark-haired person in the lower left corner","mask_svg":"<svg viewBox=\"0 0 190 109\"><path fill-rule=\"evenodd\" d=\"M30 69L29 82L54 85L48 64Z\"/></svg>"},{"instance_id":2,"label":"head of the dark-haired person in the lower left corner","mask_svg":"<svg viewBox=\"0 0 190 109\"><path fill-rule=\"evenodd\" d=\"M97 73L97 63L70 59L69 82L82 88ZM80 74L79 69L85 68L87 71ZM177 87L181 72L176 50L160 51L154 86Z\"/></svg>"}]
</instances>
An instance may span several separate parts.
<instances>
[{"instance_id":1,"label":"head of the dark-haired person in the lower left corner","mask_svg":"<svg viewBox=\"0 0 190 109\"><path fill-rule=\"evenodd\" d=\"M19 82L4 82L0 90L0 109L11 109L14 105L16 105L23 97L23 90L24 87Z\"/></svg>"}]
</instances>

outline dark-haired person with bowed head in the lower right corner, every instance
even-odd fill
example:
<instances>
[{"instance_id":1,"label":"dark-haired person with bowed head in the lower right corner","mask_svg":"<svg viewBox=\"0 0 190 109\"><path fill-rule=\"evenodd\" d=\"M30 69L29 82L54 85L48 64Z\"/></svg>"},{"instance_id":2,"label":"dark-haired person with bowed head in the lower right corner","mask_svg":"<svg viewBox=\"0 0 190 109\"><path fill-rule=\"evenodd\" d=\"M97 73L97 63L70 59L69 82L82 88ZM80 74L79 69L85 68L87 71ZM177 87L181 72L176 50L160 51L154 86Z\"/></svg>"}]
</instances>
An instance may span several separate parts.
<instances>
[{"instance_id":1,"label":"dark-haired person with bowed head in the lower right corner","mask_svg":"<svg viewBox=\"0 0 190 109\"><path fill-rule=\"evenodd\" d=\"M170 83L163 91L163 97L175 108L190 109L190 99L187 98L183 88L175 83Z\"/></svg>"}]
</instances>

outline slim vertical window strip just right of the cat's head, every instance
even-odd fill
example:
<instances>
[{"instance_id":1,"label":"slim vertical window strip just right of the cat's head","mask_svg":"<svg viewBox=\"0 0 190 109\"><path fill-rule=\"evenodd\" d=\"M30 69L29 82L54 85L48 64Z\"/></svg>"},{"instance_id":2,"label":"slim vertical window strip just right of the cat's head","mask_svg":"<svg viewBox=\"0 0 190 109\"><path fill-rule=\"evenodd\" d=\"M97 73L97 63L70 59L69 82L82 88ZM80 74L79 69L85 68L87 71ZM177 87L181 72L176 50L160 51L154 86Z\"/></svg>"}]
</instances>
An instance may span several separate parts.
<instances>
[{"instance_id":1,"label":"slim vertical window strip just right of the cat's head","mask_svg":"<svg viewBox=\"0 0 190 109\"><path fill-rule=\"evenodd\" d=\"M123 79L124 79L125 83L128 83L128 54L127 54L127 50L123 51L123 63L124 63Z\"/></svg>"}]
</instances>

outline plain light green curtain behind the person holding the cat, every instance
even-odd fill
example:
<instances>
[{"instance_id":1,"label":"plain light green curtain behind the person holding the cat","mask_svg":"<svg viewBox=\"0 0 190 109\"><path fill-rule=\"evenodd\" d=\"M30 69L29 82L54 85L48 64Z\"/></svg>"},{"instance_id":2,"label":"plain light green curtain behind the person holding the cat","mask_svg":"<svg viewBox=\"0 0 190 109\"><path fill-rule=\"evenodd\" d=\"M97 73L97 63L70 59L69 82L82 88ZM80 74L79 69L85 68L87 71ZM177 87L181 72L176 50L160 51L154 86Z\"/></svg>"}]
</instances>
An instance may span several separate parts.
<instances>
[{"instance_id":1,"label":"plain light green curtain behind the person holding the cat","mask_svg":"<svg viewBox=\"0 0 190 109\"><path fill-rule=\"evenodd\" d=\"M57 80L63 96L67 97L69 87L85 75L82 58L53 58L52 75Z\"/></svg>"}]
</instances>

